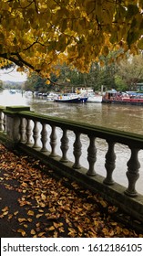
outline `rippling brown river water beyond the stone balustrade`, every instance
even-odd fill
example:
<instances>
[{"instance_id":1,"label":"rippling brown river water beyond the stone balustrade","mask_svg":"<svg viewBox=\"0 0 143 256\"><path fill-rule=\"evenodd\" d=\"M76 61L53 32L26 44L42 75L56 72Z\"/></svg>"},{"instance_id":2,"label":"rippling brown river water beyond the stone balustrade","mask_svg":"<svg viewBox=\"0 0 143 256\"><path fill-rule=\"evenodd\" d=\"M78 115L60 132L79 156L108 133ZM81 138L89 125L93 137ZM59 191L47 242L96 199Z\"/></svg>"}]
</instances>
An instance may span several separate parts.
<instances>
[{"instance_id":1,"label":"rippling brown river water beyond the stone balustrade","mask_svg":"<svg viewBox=\"0 0 143 256\"><path fill-rule=\"evenodd\" d=\"M11 94L9 91L0 93L0 105L25 105L30 106L32 111L44 113L50 116L66 118L82 123L90 123L107 128L117 129L131 133L143 134L143 107L129 105L114 105L102 103L85 103L85 104L69 104L49 102L46 99L37 99L21 93ZM86 137L83 141L87 144ZM113 177L116 182L123 186L128 186L126 176L127 162L130 157L130 151L127 146L116 144L117 167L114 170ZM107 152L107 144L103 140L97 140L97 163L96 171L100 175L105 176L105 152ZM70 158L70 152L67 154ZM84 155L84 152L83 152ZM143 151L138 154L140 169L139 178L136 188L139 193L143 194ZM70 160L73 160L72 158ZM83 156L82 163L87 167L87 151Z\"/></svg>"}]
</instances>

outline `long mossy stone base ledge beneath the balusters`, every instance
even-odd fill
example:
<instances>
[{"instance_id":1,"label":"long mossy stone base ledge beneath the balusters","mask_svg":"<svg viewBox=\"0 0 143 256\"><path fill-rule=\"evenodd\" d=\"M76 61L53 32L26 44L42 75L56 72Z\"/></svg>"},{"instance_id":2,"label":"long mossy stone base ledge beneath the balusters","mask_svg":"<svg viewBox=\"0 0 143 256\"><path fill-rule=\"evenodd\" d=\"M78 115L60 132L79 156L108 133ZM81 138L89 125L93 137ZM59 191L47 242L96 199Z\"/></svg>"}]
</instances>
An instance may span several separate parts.
<instances>
[{"instance_id":1,"label":"long mossy stone base ledge beneath the balusters","mask_svg":"<svg viewBox=\"0 0 143 256\"><path fill-rule=\"evenodd\" d=\"M117 183L107 186L103 183L104 176L87 176L87 169L82 167L74 169L73 163L63 163L61 157L51 157L50 153L41 153L38 149L26 146L26 144L18 144L18 148L26 152L28 155L33 155L40 159L43 163L50 166L54 171L62 176L66 176L74 181L77 181L82 187L90 189L94 193L99 193L110 204L121 208L129 216L137 219L143 224L143 195L132 198L125 194L126 187Z\"/></svg>"}]
</instances>

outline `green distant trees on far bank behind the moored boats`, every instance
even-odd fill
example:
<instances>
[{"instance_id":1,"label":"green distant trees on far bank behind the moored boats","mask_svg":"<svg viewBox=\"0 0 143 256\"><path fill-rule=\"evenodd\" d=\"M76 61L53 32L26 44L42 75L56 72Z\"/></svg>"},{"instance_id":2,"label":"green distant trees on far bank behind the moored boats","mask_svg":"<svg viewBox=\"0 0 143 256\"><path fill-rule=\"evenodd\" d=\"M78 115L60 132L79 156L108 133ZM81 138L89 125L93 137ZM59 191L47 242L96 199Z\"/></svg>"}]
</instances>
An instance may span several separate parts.
<instances>
[{"instance_id":1,"label":"green distant trees on far bank behind the moored boats","mask_svg":"<svg viewBox=\"0 0 143 256\"><path fill-rule=\"evenodd\" d=\"M111 61L112 59L112 61ZM58 75L51 74L50 84L46 79L33 72L25 82L25 90L30 91L60 91L74 87L92 87L94 91L100 91L103 85L106 90L112 88L117 91L136 91L137 83L143 81L143 56L127 55L124 59L117 59L117 52L101 56L100 61L91 65L89 72L80 72L73 67L58 66Z\"/></svg>"}]
</instances>

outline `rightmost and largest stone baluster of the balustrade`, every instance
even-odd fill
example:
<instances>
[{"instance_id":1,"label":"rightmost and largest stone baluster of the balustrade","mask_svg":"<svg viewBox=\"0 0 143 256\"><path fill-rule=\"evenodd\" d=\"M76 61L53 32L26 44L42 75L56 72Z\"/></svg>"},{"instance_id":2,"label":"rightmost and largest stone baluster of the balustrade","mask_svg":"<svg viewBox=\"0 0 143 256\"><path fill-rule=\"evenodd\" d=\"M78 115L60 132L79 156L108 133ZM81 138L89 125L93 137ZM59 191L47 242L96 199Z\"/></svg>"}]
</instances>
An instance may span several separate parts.
<instances>
[{"instance_id":1,"label":"rightmost and largest stone baluster of the balustrade","mask_svg":"<svg viewBox=\"0 0 143 256\"><path fill-rule=\"evenodd\" d=\"M139 167L140 167L140 163L138 161L138 148L133 148L130 147L131 150L131 155L130 155L130 159L128 160L128 172L127 172L127 176L128 176L128 189L125 191L125 194L128 195L129 197L137 197L138 196L138 192L136 191L136 182L138 180L139 177Z\"/></svg>"}]
</instances>

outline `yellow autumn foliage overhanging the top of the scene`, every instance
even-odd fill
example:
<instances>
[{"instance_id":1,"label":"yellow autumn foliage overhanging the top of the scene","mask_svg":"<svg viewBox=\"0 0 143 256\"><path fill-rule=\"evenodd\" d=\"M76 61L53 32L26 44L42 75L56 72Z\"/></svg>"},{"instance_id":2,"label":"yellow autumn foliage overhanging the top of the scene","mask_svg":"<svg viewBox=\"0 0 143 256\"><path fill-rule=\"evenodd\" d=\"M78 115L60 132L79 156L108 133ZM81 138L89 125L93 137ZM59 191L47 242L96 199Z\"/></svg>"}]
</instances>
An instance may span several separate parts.
<instances>
[{"instance_id":1,"label":"yellow autumn foliage overhanging the top of the scene","mask_svg":"<svg viewBox=\"0 0 143 256\"><path fill-rule=\"evenodd\" d=\"M86 70L120 46L137 53L142 9L142 0L1 0L0 67L6 59L47 77L62 62Z\"/></svg>"}]
</instances>

